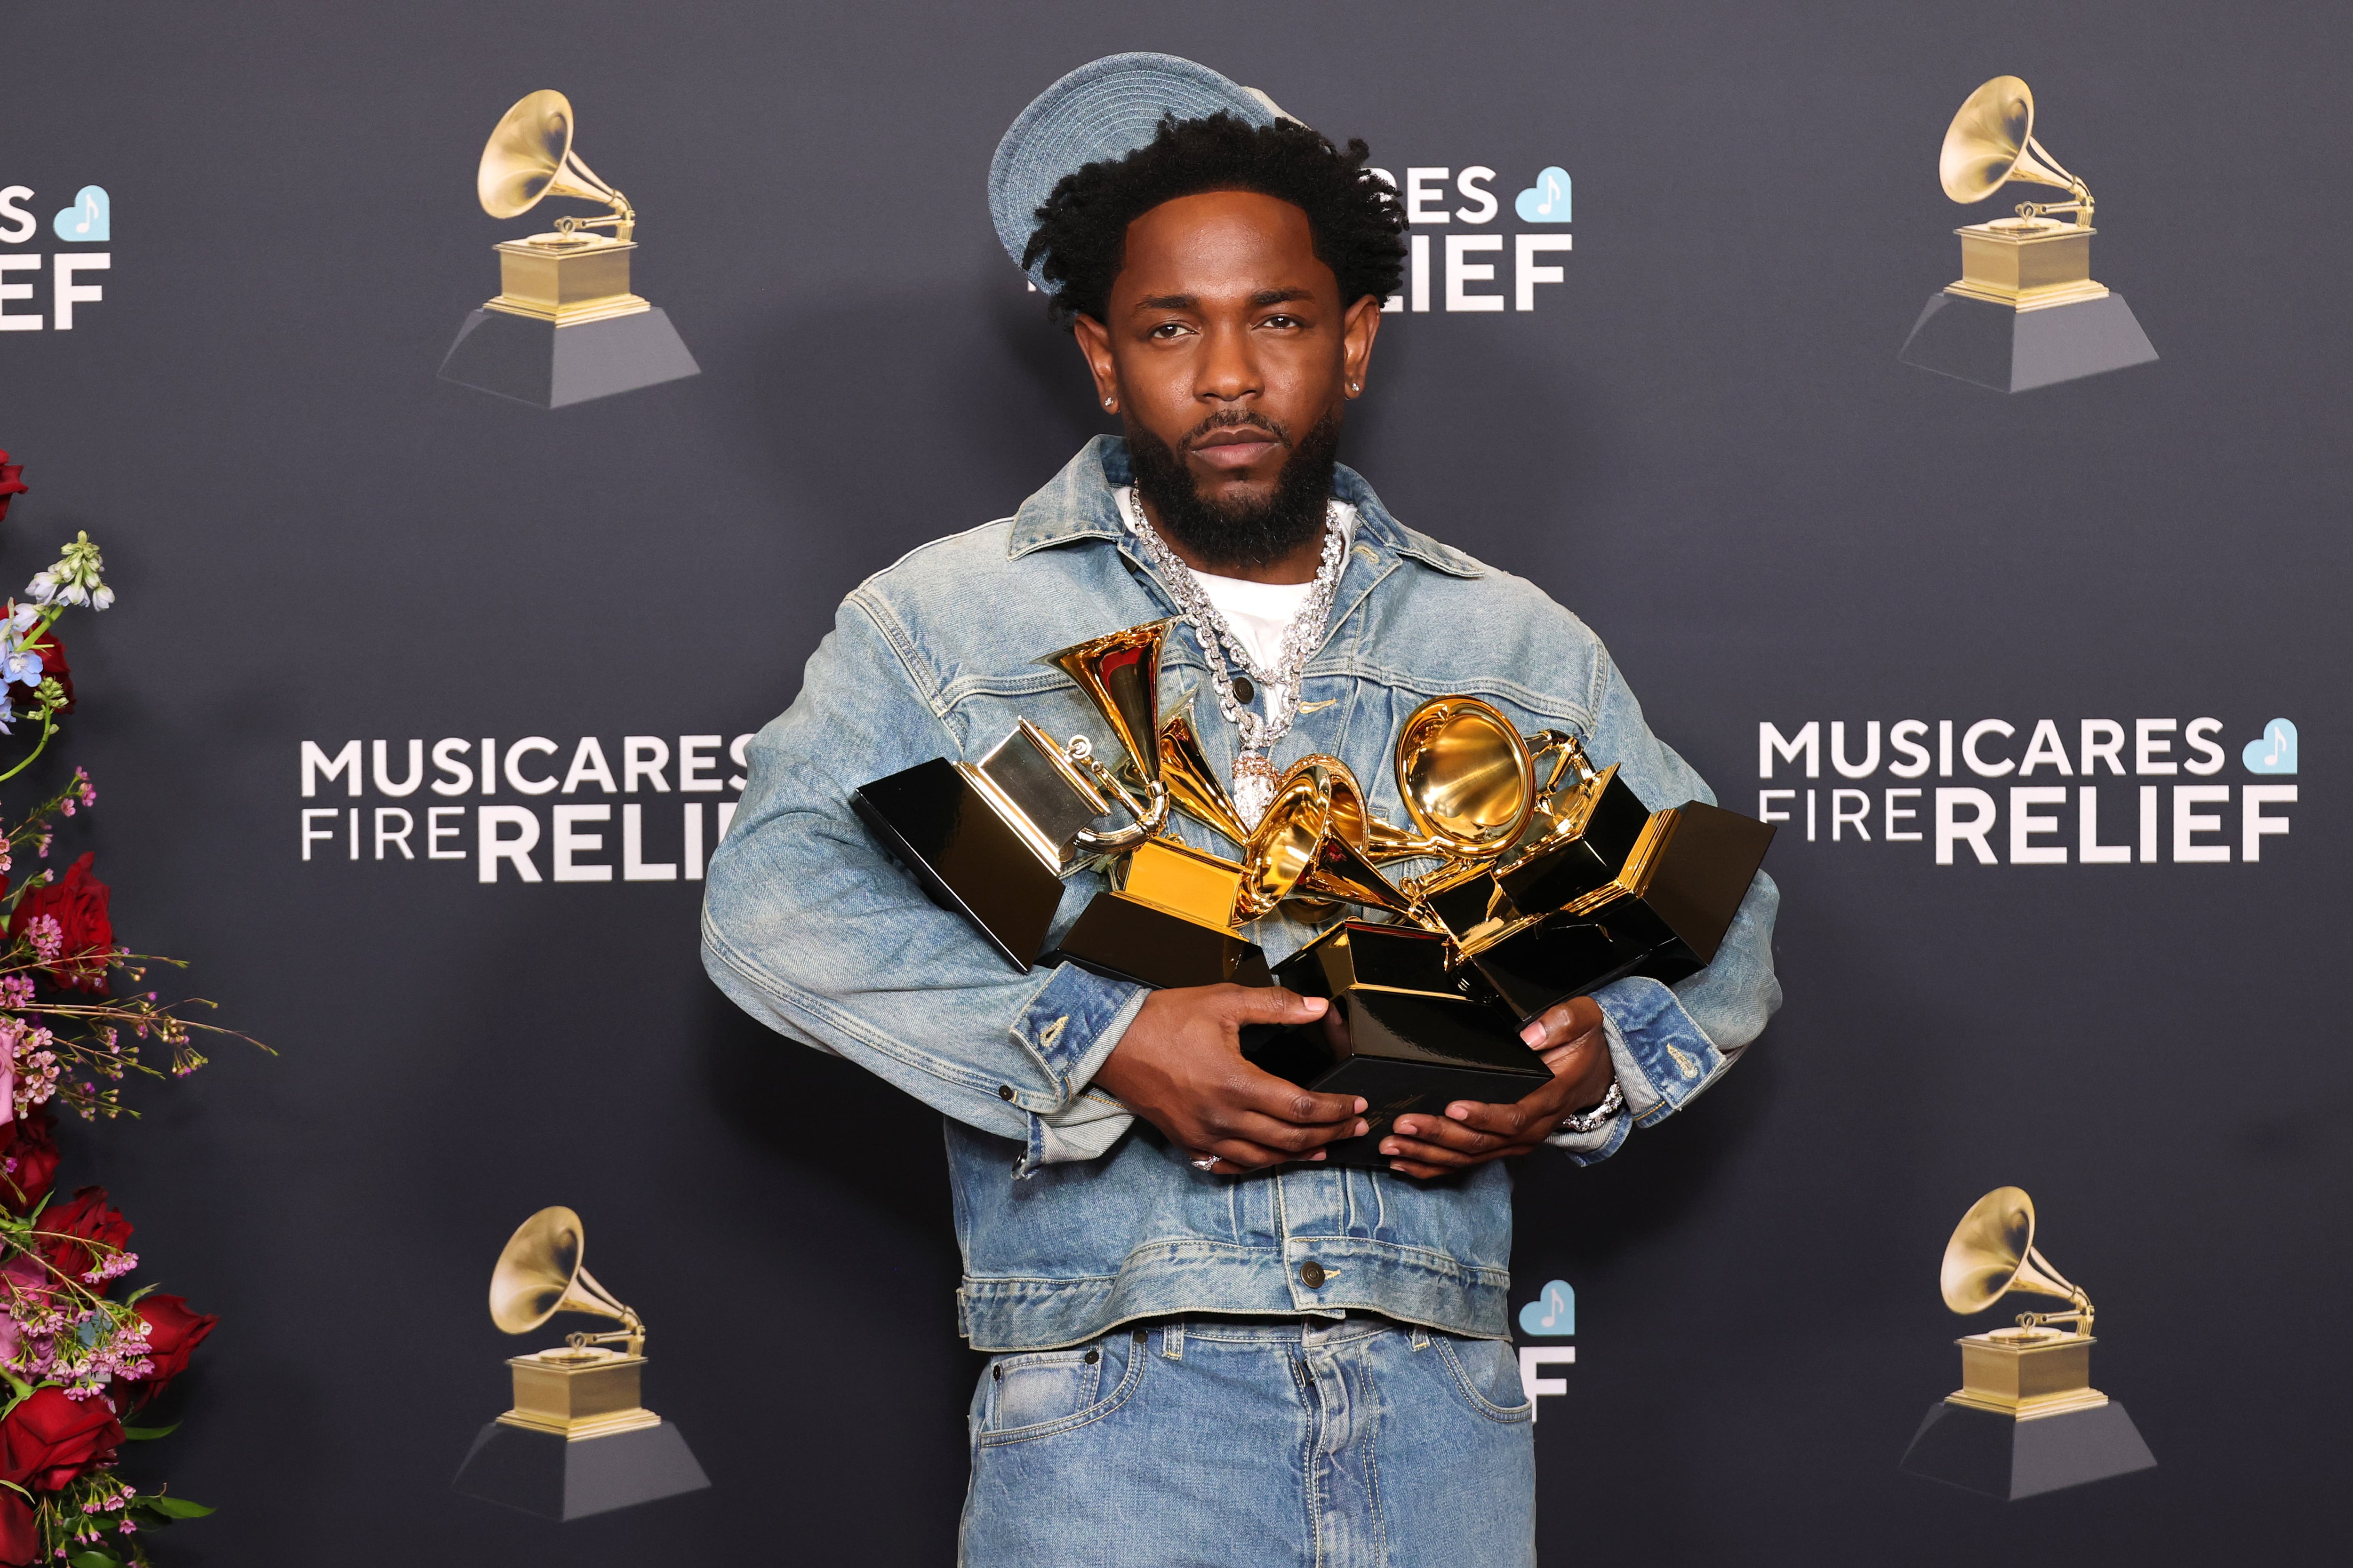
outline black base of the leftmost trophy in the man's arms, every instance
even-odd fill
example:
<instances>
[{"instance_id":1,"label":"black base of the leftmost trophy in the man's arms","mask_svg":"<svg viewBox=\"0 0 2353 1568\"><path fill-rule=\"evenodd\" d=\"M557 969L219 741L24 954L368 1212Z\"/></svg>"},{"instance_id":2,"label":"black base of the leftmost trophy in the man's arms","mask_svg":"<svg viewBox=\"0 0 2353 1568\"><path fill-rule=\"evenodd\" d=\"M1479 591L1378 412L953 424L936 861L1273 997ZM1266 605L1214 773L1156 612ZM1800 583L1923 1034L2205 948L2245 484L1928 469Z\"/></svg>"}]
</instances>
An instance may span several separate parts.
<instances>
[{"instance_id":1,"label":"black base of the leftmost trophy in the man's arms","mask_svg":"<svg viewBox=\"0 0 2353 1568\"><path fill-rule=\"evenodd\" d=\"M1007 964L1028 971L1061 907L1061 877L955 764L932 757L875 778L849 795L849 809L932 903L969 919Z\"/></svg>"}]
</instances>

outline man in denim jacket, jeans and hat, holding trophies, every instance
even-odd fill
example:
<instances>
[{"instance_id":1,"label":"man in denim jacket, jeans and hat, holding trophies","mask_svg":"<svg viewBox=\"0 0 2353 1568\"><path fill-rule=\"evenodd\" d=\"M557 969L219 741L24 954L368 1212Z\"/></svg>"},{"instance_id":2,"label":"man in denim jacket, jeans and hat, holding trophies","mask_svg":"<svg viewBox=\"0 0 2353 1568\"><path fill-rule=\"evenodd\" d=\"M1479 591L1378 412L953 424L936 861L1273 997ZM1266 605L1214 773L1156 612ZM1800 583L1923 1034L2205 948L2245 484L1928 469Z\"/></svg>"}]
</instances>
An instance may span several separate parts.
<instances>
[{"instance_id":1,"label":"man in denim jacket, jeans and hat, holding trophies","mask_svg":"<svg viewBox=\"0 0 2353 1568\"><path fill-rule=\"evenodd\" d=\"M1167 616L1162 705L1191 696L1245 813L1268 773L1329 752L1402 820L1398 726L1457 691L1574 731L1652 809L1706 797L1574 616L1334 463L1405 249L1365 158L1172 56L1085 66L1016 120L991 172L1000 235L1125 442L1096 437L1014 517L849 595L711 863L713 980L946 1112L960 1319L995 1352L972 1401L972 1566L1534 1561L1499 1161L1612 1154L1779 1004L1758 877L1699 976L1529 1025L1546 1088L1400 1117L1391 1171L1334 1168L1322 1150L1365 1131L1365 1103L1238 1051L1242 1025L1322 1001L1016 976L849 811L861 783L974 757L1024 715L1108 748L1033 661ZM1073 877L1056 933L1099 889ZM1313 931L1249 936L1280 959Z\"/></svg>"}]
</instances>

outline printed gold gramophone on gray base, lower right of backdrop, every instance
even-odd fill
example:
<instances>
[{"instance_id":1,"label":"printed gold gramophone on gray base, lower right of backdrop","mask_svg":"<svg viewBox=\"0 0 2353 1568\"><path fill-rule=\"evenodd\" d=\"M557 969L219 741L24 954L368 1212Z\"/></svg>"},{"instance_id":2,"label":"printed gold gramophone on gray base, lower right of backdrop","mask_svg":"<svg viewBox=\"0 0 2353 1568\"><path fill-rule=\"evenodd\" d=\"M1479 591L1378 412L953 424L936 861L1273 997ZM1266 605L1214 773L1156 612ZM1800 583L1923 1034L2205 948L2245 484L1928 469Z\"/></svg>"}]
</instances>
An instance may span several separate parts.
<instances>
[{"instance_id":1,"label":"printed gold gramophone on gray base, lower right of backdrop","mask_svg":"<svg viewBox=\"0 0 2353 1568\"><path fill-rule=\"evenodd\" d=\"M1939 1288L1958 1314L2009 1293L2066 1307L1955 1340L1960 1387L1929 1406L1906 1472L2017 1500L2158 1462L2125 1406L2092 1387L2092 1298L2035 1248L2035 1201L2021 1187L1969 1206L1946 1241Z\"/></svg>"}]
</instances>

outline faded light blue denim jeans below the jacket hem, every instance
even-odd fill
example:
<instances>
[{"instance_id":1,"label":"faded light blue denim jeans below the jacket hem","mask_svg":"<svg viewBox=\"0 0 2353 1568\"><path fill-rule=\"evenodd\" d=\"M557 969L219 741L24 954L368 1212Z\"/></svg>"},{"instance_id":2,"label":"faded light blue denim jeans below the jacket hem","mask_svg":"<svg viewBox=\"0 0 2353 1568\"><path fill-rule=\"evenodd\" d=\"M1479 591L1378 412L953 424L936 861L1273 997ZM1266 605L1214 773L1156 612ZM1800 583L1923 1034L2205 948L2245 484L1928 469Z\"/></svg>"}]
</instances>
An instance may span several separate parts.
<instances>
[{"instance_id":1,"label":"faded light blue denim jeans below the jacket hem","mask_svg":"<svg viewBox=\"0 0 2353 1568\"><path fill-rule=\"evenodd\" d=\"M995 1356L962 1568L1529 1568L1508 1342L1188 1319Z\"/></svg>"}]
</instances>

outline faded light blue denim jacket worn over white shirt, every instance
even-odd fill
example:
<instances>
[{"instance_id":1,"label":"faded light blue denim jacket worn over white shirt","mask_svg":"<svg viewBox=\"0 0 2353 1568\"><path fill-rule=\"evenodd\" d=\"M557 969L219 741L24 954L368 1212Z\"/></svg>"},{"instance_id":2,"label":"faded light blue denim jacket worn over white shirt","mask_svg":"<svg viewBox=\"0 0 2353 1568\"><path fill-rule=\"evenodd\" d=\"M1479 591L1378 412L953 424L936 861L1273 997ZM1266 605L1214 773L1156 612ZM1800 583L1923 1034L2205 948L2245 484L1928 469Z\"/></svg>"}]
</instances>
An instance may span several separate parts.
<instances>
[{"instance_id":1,"label":"faded light blue denim jacket worn over white shirt","mask_svg":"<svg viewBox=\"0 0 2353 1568\"><path fill-rule=\"evenodd\" d=\"M1377 1312L1508 1338L1501 1161L1433 1182L1320 1164L1195 1171L1089 1086L1144 992L1068 964L1014 973L849 811L861 783L929 757L979 757L1019 717L1120 755L1071 679L1035 661L1179 614L1120 524L1113 491L1127 480L1125 444L1096 437L1014 517L922 545L842 602L800 696L753 743L751 783L708 867L704 966L769 1027L946 1114L965 1253L958 1309L974 1349L1052 1349L1129 1319L1212 1312ZM1649 733L1577 616L1407 529L1355 473L1341 468L1334 491L1360 524L1278 769L1308 752L1341 757L1367 804L1405 823L1398 729L1426 698L1464 691L1525 733L1579 733L1652 809L1715 799ZM1233 726L1207 693L1188 625L1172 630L1160 682L1162 712L1202 691L1202 750L1231 771ZM1209 827L1172 823L1191 844L1235 853ZM1099 875L1071 877L1054 933L1101 889ZM1781 1001L1774 905L1760 875L1708 969L1673 987L1638 978L1598 992L1626 1110L1598 1133L1555 1138L1569 1159L1617 1152L1628 1128L1675 1112L1758 1037ZM1280 961L1313 931L1268 917L1247 936ZM1311 1260L1320 1274L1301 1274Z\"/></svg>"}]
</instances>

